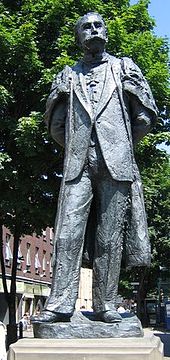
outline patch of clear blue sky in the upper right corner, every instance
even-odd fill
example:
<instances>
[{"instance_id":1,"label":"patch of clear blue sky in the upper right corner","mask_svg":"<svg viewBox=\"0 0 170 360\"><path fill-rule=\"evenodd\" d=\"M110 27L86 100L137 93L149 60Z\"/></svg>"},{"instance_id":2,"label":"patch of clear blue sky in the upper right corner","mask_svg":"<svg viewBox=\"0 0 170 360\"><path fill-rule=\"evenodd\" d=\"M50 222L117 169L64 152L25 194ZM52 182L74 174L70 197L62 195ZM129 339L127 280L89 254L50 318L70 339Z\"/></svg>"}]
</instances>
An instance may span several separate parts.
<instances>
[{"instance_id":1,"label":"patch of clear blue sky in the upper right corner","mask_svg":"<svg viewBox=\"0 0 170 360\"><path fill-rule=\"evenodd\" d=\"M133 5L138 1L130 2ZM156 21L155 34L170 38L170 0L150 0L149 13Z\"/></svg>"}]
</instances>

